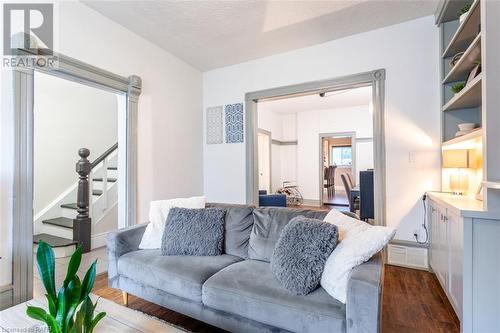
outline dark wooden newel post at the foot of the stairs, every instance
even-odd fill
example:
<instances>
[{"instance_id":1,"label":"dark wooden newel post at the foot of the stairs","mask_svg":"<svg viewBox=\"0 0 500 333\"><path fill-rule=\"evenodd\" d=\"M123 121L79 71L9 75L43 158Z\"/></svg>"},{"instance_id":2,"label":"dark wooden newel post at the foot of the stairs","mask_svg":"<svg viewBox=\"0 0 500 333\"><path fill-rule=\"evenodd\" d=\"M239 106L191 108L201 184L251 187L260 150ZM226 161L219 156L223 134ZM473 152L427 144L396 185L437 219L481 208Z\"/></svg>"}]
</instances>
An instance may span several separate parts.
<instances>
[{"instance_id":1,"label":"dark wooden newel post at the foot of the stairs","mask_svg":"<svg viewBox=\"0 0 500 333\"><path fill-rule=\"evenodd\" d=\"M76 172L78 173L78 194L76 200L78 215L73 220L73 240L78 241L82 246L83 253L90 252L92 223L89 216L90 191L89 174L92 169L90 161L87 159L90 151L81 148L78 151L80 160L76 162Z\"/></svg>"}]
</instances>

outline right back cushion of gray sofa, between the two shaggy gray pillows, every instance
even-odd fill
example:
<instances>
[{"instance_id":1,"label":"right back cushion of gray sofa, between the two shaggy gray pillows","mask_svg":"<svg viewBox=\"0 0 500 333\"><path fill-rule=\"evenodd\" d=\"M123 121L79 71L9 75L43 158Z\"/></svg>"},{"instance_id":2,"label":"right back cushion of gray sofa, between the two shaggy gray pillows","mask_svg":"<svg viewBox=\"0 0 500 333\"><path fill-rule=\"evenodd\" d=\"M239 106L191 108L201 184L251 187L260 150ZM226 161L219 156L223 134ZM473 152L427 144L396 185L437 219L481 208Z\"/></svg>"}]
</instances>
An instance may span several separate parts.
<instances>
[{"instance_id":1,"label":"right back cushion of gray sofa, between the two shaggy gray pillows","mask_svg":"<svg viewBox=\"0 0 500 333\"><path fill-rule=\"evenodd\" d=\"M292 208L255 208L254 224L248 245L248 257L270 262L281 231L297 216L323 220L328 212Z\"/></svg>"}]
</instances>

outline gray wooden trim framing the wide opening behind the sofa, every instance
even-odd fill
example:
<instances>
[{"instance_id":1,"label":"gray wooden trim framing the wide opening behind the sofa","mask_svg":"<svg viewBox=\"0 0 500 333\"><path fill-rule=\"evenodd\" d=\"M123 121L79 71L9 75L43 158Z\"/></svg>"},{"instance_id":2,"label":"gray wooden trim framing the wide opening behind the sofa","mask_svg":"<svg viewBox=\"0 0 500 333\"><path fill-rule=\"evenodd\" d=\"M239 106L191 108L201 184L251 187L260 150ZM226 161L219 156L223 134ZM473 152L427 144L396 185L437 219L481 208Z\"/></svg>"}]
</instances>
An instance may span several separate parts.
<instances>
[{"instance_id":1,"label":"gray wooden trim framing the wide opening behind the sofa","mask_svg":"<svg viewBox=\"0 0 500 333\"><path fill-rule=\"evenodd\" d=\"M258 205L259 189L259 160L258 160L258 103L265 101L288 99L291 97L307 96L313 94L325 95L342 90L370 87L371 88L371 120L373 144L373 170L372 174L374 224L385 225L386 198L385 198L385 142L384 142L384 83L385 70L374 70L360 74L338 77L329 80L306 82L285 87L249 92L245 95L245 124L246 124L246 192L247 203ZM297 122L299 123L299 122ZM316 141L318 136L316 134ZM298 142L300 145L300 140ZM319 145L316 143L316 147ZM315 161L319 161L316 153ZM316 167L318 170L318 167ZM314 172L316 174L316 172ZM319 179L316 178L316 179ZM323 181L323 175L321 175ZM319 186L314 186L315 193ZM322 192L321 192L322 193ZM304 201L305 202L305 201Z\"/></svg>"}]
</instances>

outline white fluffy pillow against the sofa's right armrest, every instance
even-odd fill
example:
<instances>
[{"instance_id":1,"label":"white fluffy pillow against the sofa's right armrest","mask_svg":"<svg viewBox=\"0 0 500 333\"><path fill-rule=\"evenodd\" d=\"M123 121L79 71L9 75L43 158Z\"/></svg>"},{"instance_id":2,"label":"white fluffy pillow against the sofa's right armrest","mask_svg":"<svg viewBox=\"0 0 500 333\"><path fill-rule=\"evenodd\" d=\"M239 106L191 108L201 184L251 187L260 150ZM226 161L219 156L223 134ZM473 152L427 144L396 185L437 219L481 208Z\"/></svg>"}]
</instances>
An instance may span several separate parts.
<instances>
[{"instance_id":1,"label":"white fluffy pillow against the sofa's right armrest","mask_svg":"<svg viewBox=\"0 0 500 333\"><path fill-rule=\"evenodd\" d=\"M371 226L336 210L331 210L324 221L339 229L339 244L326 261L321 286L330 296L345 304L353 268L381 251L394 237L396 229Z\"/></svg>"}]
</instances>

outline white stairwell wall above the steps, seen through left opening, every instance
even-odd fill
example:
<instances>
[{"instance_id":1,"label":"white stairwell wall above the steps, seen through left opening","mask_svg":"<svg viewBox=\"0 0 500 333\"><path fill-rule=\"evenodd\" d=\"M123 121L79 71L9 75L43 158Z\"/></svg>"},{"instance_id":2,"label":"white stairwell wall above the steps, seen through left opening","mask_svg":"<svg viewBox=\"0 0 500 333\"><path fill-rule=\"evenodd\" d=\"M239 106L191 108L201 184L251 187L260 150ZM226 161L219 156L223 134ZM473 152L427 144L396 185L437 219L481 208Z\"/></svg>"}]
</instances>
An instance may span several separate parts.
<instances>
[{"instance_id":1,"label":"white stairwell wall above the steps, seen through left opening","mask_svg":"<svg viewBox=\"0 0 500 333\"><path fill-rule=\"evenodd\" d=\"M93 161L118 142L118 105L111 92L42 73L34 91L36 215L77 182L78 149Z\"/></svg>"}]
</instances>

